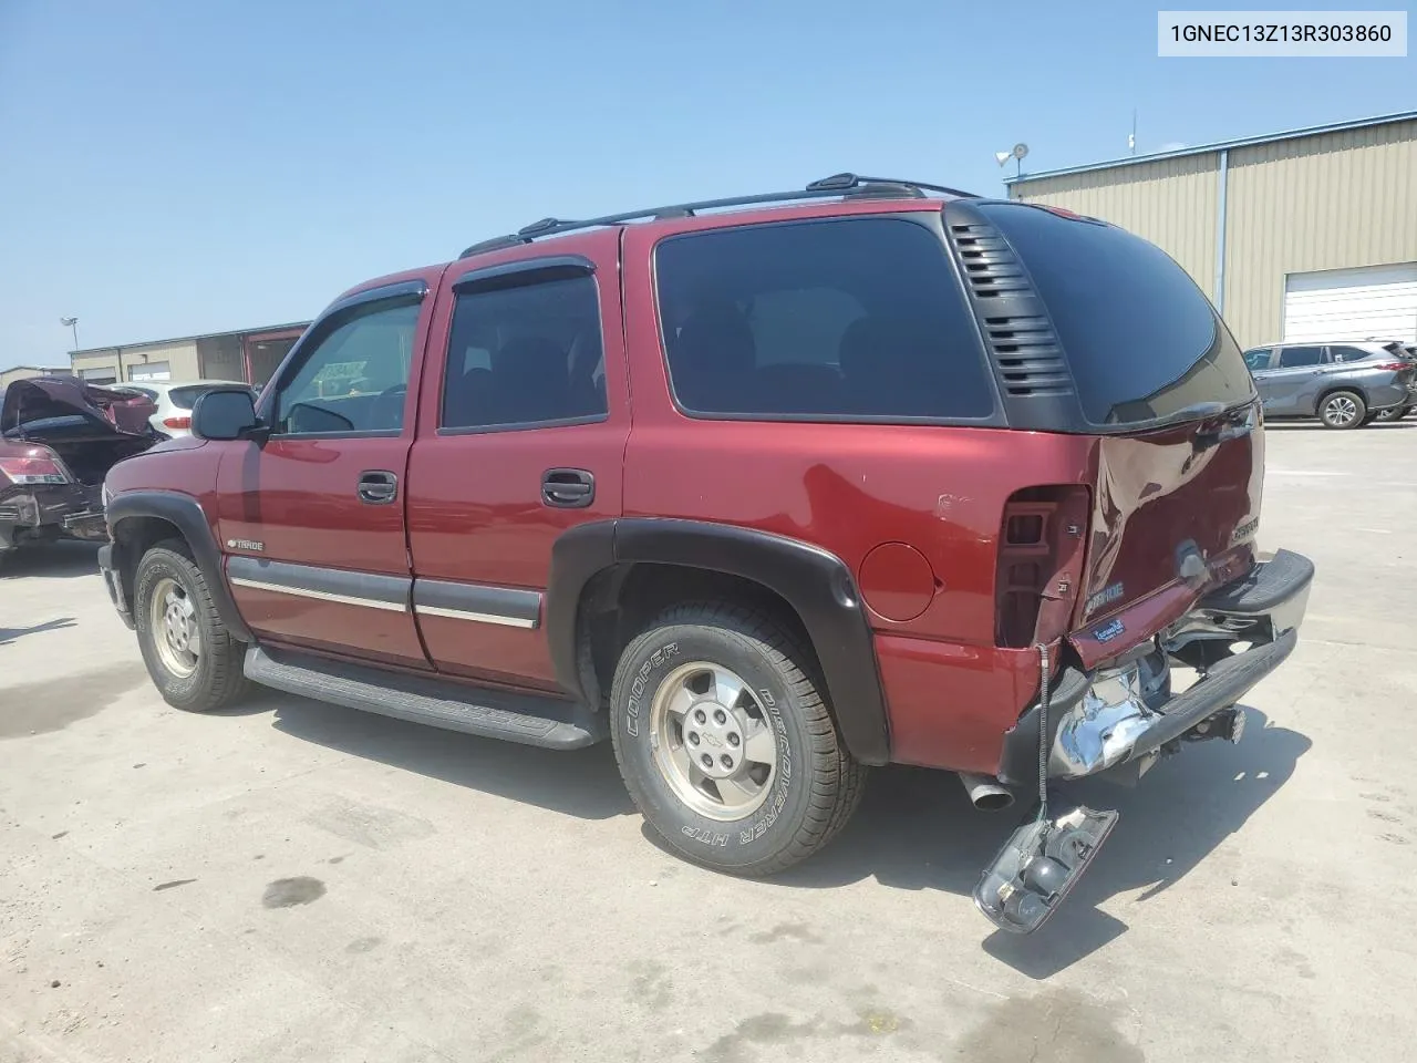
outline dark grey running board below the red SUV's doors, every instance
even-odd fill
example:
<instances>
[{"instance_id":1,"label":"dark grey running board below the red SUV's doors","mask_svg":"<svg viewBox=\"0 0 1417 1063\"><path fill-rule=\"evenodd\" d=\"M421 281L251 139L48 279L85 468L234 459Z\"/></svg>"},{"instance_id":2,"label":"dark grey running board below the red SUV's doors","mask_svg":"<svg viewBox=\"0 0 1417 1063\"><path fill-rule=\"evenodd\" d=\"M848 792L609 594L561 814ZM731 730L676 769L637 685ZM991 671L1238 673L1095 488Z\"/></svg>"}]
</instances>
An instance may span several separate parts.
<instances>
[{"instance_id":1,"label":"dark grey running board below the red SUV's doors","mask_svg":"<svg viewBox=\"0 0 1417 1063\"><path fill-rule=\"evenodd\" d=\"M605 713L574 702L461 686L360 665L252 646L247 679L346 709L504 738L547 750L578 750L609 737Z\"/></svg>"}]
</instances>

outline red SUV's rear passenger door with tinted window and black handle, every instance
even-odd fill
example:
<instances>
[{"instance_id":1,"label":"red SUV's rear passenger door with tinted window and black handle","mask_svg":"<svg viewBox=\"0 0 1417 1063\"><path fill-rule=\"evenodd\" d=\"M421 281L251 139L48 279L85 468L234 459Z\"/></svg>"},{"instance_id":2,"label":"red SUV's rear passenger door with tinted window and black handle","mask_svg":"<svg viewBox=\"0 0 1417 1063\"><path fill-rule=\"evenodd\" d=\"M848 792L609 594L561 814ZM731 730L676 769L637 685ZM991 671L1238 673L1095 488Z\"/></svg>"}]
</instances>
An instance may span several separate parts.
<instances>
[{"instance_id":1,"label":"red SUV's rear passenger door with tinted window and black handle","mask_svg":"<svg viewBox=\"0 0 1417 1063\"><path fill-rule=\"evenodd\" d=\"M445 274L408 462L414 609L441 672L555 690L551 546L621 513L623 353L618 231Z\"/></svg>"}]
</instances>

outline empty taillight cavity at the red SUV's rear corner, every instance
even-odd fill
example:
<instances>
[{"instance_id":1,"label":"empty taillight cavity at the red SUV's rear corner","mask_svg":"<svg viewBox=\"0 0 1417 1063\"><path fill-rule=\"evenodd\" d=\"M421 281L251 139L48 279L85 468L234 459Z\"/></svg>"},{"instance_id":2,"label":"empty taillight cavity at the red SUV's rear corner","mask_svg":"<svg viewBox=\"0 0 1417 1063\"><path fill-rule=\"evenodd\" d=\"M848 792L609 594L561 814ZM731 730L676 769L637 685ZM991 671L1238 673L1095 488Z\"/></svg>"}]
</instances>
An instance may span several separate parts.
<instances>
[{"instance_id":1,"label":"empty taillight cavity at the red SUV's rear corner","mask_svg":"<svg viewBox=\"0 0 1417 1063\"><path fill-rule=\"evenodd\" d=\"M1015 492L1003 507L995 574L995 641L1053 642L1067 634L1083 571L1087 488Z\"/></svg>"}]
</instances>

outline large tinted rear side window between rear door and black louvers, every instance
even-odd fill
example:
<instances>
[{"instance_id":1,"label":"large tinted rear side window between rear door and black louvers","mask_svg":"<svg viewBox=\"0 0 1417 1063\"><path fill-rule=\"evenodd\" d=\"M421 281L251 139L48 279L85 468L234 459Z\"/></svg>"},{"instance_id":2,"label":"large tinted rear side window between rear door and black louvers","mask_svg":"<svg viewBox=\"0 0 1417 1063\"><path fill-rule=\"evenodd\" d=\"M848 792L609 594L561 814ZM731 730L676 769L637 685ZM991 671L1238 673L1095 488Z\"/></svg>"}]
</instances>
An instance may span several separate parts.
<instances>
[{"instance_id":1,"label":"large tinted rear side window between rear door and black louvers","mask_svg":"<svg viewBox=\"0 0 1417 1063\"><path fill-rule=\"evenodd\" d=\"M757 420L978 420L995 411L939 235L900 218L744 225L655 252L674 398Z\"/></svg>"}]
</instances>

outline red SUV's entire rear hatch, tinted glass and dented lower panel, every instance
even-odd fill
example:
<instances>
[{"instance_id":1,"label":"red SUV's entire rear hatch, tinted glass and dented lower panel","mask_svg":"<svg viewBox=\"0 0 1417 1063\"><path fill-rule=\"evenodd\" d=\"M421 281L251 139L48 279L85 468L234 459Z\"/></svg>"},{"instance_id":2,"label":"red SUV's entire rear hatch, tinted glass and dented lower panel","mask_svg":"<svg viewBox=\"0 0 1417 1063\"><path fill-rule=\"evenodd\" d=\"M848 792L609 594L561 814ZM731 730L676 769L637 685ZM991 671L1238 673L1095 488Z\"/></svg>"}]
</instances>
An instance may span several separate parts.
<instances>
[{"instance_id":1,"label":"red SUV's entire rear hatch, tinted glass and dented lower panel","mask_svg":"<svg viewBox=\"0 0 1417 1063\"><path fill-rule=\"evenodd\" d=\"M1034 418L1027 427L1091 439L1071 625L1074 645L1097 659L1250 567L1264 486L1254 381L1214 308L1155 245L1041 207L975 210L1022 269L1040 322L1034 364L1013 377L1037 387L1015 387L1000 370L1006 393Z\"/></svg>"}]
</instances>

